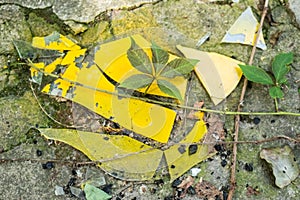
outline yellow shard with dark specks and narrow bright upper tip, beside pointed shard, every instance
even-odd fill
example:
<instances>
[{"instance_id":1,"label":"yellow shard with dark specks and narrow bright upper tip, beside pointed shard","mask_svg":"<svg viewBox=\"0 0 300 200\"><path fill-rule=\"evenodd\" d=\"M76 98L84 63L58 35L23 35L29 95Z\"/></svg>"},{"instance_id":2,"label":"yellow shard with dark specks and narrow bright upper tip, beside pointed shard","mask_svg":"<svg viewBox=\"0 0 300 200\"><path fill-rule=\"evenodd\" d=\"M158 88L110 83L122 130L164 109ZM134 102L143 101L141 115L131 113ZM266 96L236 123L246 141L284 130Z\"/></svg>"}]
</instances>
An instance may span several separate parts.
<instances>
[{"instance_id":1,"label":"yellow shard with dark specks and narrow bright upper tip, beside pointed shard","mask_svg":"<svg viewBox=\"0 0 300 200\"><path fill-rule=\"evenodd\" d=\"M171 181L181 176L197 163L211 156L207 145L192 144L200 142L206 132L205 122L202 120L197 121L186 138L164 151ZM196 148L196 151L192 154L189 151L191 147Z\"/></svg>"}]
</instances>

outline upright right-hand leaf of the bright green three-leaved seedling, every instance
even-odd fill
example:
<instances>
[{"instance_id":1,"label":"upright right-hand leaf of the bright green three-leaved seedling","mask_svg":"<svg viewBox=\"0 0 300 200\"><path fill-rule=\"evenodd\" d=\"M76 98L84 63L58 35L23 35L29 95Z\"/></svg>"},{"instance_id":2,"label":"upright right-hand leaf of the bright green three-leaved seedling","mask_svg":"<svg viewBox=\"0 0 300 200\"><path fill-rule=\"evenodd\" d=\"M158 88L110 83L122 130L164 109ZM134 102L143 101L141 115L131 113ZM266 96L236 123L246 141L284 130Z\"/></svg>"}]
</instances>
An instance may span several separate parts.
<instances>
[{"instance_id":1,"label":"upright right-hand leaf of the bright green three-leaved seedling","mask_svg":"<svg viewBox=\"0 0 300 200\"><path fill-rule=\"evenodd\" d=\"M272 71L275 76L276 82L282 82L284 76L289 72L287 65L293 62L294 55L292 53L281 53L275 56L272 63Z\"/></svg>"}]
</instances>

